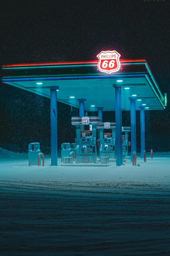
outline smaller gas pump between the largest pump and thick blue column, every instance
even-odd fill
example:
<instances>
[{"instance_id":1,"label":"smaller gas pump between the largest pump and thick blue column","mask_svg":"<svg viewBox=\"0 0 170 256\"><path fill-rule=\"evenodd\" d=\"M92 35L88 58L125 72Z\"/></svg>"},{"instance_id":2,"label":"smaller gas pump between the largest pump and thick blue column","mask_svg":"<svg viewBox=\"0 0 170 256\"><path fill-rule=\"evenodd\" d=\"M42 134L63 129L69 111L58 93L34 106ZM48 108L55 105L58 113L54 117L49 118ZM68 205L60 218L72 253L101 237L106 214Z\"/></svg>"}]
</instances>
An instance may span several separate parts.
<instances>
[{"instance_id":1,"label":"smaller gas pump between the largest pump and thick blue column","mask_svg":"<svg viewBox=\"0 0 170 256\"><path fill-rule=\"evenodd\" d=\"M101 123L97 126L100 138L100 156L116 158L115 123Z\"/></svg>"}]
</instances>

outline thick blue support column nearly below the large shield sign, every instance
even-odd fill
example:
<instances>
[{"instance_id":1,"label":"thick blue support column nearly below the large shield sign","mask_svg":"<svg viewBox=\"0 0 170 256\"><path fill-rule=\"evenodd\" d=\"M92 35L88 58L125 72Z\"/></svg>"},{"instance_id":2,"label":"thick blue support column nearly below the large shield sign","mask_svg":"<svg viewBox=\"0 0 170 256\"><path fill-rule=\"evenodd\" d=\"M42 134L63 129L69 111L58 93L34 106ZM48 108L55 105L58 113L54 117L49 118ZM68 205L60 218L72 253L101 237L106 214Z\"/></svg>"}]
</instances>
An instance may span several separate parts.
<instances>
[{"instance_id":1,"label":"thick blue support column nearly below the large shield sign","mask_svg":"<svg viewBox=\"0 0 170 256\"><path fill-rule=\"evenodd\" d=\"M115 115L116 115L116 165L123 164L122 159L122 123L121 123L121 85L115 87Z\"/></svg>"}]
</instances>

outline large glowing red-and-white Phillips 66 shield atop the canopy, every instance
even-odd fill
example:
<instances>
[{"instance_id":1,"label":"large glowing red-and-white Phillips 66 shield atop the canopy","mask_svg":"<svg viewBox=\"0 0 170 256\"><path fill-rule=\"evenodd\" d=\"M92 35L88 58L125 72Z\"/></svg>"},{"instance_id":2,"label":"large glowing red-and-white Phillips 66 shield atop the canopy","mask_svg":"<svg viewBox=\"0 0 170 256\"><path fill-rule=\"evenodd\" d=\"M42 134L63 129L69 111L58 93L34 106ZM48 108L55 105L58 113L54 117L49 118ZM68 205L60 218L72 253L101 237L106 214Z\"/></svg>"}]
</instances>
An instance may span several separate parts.
<instances>
[{"instance_id":1,"label":"large glowing red-and-white Phillips 66 shield atop the canopy","mask_svg":"<svg viewBox=\"0 0 170 256\"><path fill-rule=\"evenodd\" d=\"M118 71L120 69L120 56L117 51L102 51L97 55L99 59L98 69L108 74Z\"/></svg>"}]
</instances>

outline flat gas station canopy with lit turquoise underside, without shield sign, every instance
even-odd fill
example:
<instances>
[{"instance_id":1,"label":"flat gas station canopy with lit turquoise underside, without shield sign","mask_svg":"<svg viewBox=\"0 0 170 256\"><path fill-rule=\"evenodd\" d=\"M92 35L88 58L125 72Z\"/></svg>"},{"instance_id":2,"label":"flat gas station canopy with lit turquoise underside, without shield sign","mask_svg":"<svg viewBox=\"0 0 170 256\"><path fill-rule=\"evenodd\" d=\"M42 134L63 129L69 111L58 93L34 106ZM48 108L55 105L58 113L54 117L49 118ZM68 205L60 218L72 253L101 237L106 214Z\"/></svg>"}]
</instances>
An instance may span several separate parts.
<instances>
[{"instance_id":1,"label":"flat gas station canopy with lit turquoise underside, without shield sign","mask_svg":"<svg viewBox=\"0 0 170 256\"><path fill-rule=\"evenodd\" d=\"M165 98L149 65L142 60L120 60L120 69L107 74L98 70L98 60L25 63L3 65L2 81L9 85L50 98L50 88L58 89L57 100L79 108L78 99L86 99L85 110L115 110L116 84L121 84L122 110L130 110L129 97L136 98L136 110L163 110Z\"/></svg>"}]
</instances>

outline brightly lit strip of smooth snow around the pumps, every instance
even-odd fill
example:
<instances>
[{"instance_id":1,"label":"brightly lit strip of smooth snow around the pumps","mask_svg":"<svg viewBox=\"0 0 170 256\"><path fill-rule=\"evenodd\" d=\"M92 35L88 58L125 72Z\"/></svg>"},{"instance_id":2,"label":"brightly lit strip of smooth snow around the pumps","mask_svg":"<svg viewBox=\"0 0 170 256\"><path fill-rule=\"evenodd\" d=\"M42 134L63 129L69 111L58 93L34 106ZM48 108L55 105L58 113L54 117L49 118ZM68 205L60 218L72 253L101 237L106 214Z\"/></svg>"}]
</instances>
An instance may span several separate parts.
<instances>
[{"instance_id":1,"label":"brightly lit strip of smooth snow around the pumps","mask_svg":"<svg viewBox=\"0 0 170 256\"><path fill-rule=\"evenodd\" d=\"M147 158L147 162L137 158L132 166L130 160L122 166L112 163L110 167L75 167L61 166L61 158L58 166L50 166L50 157L45 157L45 166L28 166L25 158L1 158L1 179L22 180L71 180L71 181L137 181L137 182L169 182L170 181L170 155L160 153L153 159Z\"/></svg>"}]
</instances>

